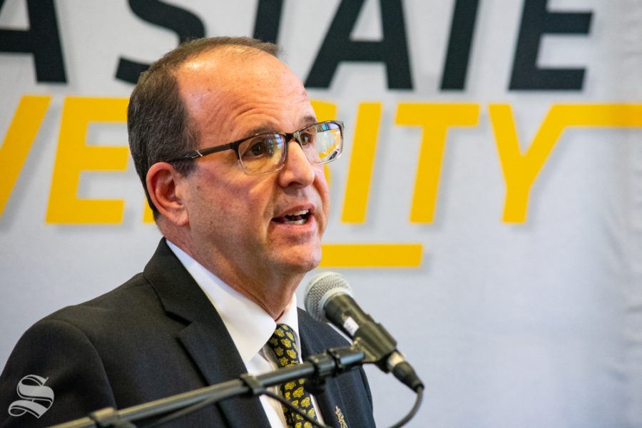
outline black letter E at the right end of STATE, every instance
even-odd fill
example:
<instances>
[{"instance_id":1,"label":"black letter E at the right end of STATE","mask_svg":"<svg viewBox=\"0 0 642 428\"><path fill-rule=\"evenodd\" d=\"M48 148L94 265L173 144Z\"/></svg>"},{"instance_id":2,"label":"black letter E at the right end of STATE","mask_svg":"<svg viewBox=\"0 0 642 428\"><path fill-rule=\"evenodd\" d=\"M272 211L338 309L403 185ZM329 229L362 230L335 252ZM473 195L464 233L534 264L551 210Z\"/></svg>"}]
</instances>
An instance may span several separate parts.
<instances>
[{"instance_id":1,"label":"black letter E at the right end of STATE","mask_svg":"<svg viewBox=\"0 0 642 428\"><path fill-rule=\"evenodd\" d=\"M547 1L524 1L509 88L581 91L584 68L539 68L537 57L544 34L588 34L592 14L549 12Z\"/></svg>"}]
</instances>

